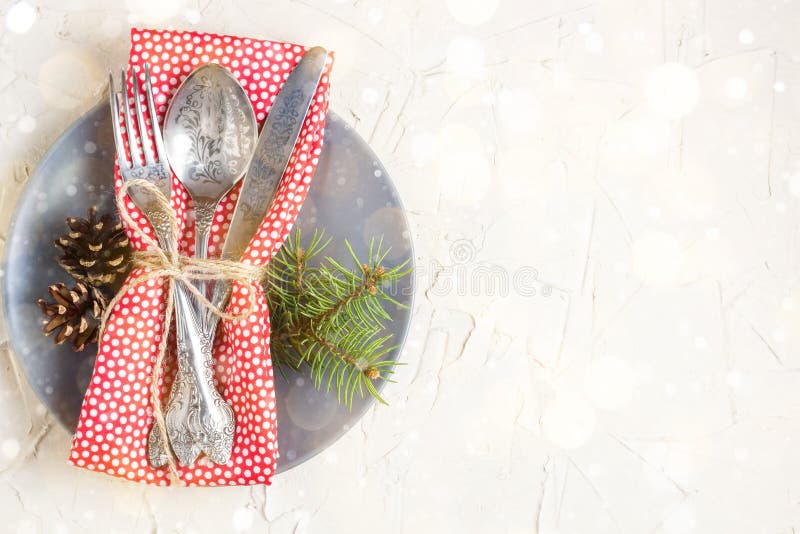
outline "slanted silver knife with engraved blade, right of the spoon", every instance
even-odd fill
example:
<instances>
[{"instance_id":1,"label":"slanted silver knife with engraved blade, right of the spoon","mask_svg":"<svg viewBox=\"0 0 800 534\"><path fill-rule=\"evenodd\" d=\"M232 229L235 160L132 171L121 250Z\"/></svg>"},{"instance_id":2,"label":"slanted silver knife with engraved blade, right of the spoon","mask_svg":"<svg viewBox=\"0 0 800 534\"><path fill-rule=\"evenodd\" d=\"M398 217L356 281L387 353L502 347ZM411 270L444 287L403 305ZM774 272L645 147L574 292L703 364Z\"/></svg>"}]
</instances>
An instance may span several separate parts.
<instances>
[{"instance_id":1,"label":"slanted silver knife with engraved blade, right of the spoon","mask_svg":"<svg viewBox=\"0 0 800 534\"><path fill-rule=\"evenodd\" d=\"M327 57L324 48L310 48L275 97L239 191L222 247L222 259L237 261L242 257L272 205L325 70ZM229 296L230 282L218 280L211 302L222 309ZM216 325L215 317L207 314L209 326Z\"/></svg>"}]
</instances>

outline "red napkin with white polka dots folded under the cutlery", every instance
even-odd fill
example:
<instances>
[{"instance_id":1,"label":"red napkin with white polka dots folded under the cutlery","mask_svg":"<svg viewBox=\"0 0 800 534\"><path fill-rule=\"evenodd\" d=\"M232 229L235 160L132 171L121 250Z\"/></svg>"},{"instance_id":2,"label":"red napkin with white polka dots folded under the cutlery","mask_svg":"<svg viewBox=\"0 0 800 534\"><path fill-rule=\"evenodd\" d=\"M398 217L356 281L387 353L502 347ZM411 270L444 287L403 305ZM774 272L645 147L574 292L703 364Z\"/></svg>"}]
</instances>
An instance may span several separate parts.
<instances>
[{"instance_id":1,"label":"red napkin with white polka dots folded under the cutlery","mask_svg":"<svg viewBox=\"0 0 800 534\"><path fill-rule=\"evenodd\" d=\"M163 121L167 103L180 82L197 66L215 62L226 67L244 87L259 125L275 95L306 48L274 41L197 32L131 30L130 66L137 67L143 83L143 66L150 64L158 120ZM283 176L275 202L250 242L243 261L264 264L280 248L305 199L322 150L328 109L329 54L312 107ZM131 91L131 80L128 79ZM116 187L121 184L115 174ZM209 253L219 253L233 215L240 186L217 208ZM191 200L180 182L172 179L172 206L181 226L181 250L194 248L194 215ZM152 229L136 206L128 210L154 238ZM146 245L128 229L137 249ZM130 276L138 276L135 270ZM234 284L228 311L240 314L249 305L248 287ZM256 311L241 321L224 321L217 332L215 371L218 388L236 413L233 454L225 465L202 457L194 466L178 465L187 485L269 484L278 456L275 391L269 350L269 311L260 288ZM165 308L161 280L140 283L123 296L112 311L100 340L94 373L81 409L69 462L121 478L168 485L167 468L154 469L147 461L147 436L153 423L150 377L163 332ZM174 324L174 322L173 322ZM174 378L174 358L168 356L163 372L162 403Z\"/></svg>"}]
</instances>

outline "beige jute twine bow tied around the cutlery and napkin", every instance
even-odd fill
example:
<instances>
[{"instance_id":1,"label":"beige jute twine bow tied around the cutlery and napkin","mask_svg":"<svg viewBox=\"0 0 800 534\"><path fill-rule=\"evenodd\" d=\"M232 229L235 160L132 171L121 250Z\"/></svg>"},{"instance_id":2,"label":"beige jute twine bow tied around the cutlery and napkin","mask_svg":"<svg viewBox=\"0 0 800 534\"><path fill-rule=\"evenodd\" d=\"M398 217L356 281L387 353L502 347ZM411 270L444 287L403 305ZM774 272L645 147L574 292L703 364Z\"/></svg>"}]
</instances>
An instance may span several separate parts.
<instances>
[{"instance_id":1,"label":"beige jute twine bow tied around the cutlery and napkin","mask_svg":"<svg viewBox=\"0 0 800 534\"><path fill-rule=\"evenodd\" d=\"M170 226L170 235L172 239L167 244L167 248L162 246L147 232L144 231L139 222L134 219L128 211L126 196L128 190L132 187L151 193L155 208L161 213L167 215L167 220ZM169 471L173 478L182 483L178 475L178 468L175 464L175 457L172 448L169 446L169 439L167 437L167 425L164 419L164 412L161 409L161 395L159 391L159 382L161 381L162 366L164 357L167 351L167 338L172 324L172 314L175 310L175 300L173 295L173 285L176 281L184 283L184 287L208 309L210 313L220 319L230 321L239 321L246 319L255 310L255 291L248 291L248 306L240 314L230 314L221 310L209 301L197 288L191 283L192 280L228 280L230 282L240 282L249 285L254 289L255 284L260 283L265 275L265 267L259 265L249 265L237 261L219 260L219 259L202 259L193 258L188 256L181 256L178 252L178 218L175 210L169 203L169 199L151 182L143 179L126 180L117 191L116 203L119 209L120 218L125 222L127 227L133 231L143 242L148 245L145 250L134 251L132 255L132 263L134 267L141 267L142 272L137 275L131 275L125 281L123 286L119 289L117 294L108 303L102 317L100 318L99 336L98 339L103 339L106 327L108 326L108 319L111 312L123 298L123 296L134 286L147 282L148 280L155 280L163 278L165 280L166 291L166 308L164 310L164 328L161 331L161 341L158 345L158 353L155 364L153 366L153 373L151 376L150 394L153 401L153 418L155 419L158 432L161 434L162 442L165 444L167 453L167 463Z\"/></svg>"}]
</instances>

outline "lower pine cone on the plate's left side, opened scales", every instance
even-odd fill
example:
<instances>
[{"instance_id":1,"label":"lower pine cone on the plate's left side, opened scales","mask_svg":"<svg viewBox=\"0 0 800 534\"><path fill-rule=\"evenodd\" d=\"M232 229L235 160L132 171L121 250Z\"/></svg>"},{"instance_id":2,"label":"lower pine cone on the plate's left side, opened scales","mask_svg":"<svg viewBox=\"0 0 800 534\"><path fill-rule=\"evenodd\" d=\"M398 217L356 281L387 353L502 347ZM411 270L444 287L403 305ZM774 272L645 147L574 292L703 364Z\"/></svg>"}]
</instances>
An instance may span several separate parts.
<instances>
[{"instance_id":1,"label":"lower pine cone on the plate's left side, opened scales","mask_svg":"<svg viewBox=\"0 0 800 534\"><path fill-rule=\"evenodd\" d=\"M70 340L76 351L82 351L87 343L97 341L100 318L107 301L103 294L85 282L75 282L67 288L58 283L50 286L53 302L39 299L39 308L47 316L45 335L58 331L55 342L60 345Z\"/></svg>"}]
</instances>

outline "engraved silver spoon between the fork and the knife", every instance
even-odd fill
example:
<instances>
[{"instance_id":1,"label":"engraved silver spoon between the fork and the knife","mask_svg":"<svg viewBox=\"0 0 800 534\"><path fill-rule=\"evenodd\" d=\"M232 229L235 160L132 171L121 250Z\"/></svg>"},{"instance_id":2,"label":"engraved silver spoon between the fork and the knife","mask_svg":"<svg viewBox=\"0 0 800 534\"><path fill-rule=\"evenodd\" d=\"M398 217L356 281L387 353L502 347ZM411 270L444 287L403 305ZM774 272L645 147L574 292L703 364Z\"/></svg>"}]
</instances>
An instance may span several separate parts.
<instances>
[{"instance_id":1,"label":"engraved silver spoon between the fork and the knife","mask_svg":"<svg viewBox=\"0 0 800 534\"><path fill-rule=\"evenodd\" d=\"M208 257L217 204L247 170L257 137L258 125L247 94L223 67L207 64L195 69L175 92L164 119L164 145L172 170L194 202L197 258ZM208 296L205 281L197 281L196 287ZM208 315L197 303L195 309L198 318ZM207 321L201 322L207 325ZM192 351L191 369L178 362L166 412L167 434L184 465L194 463L200 452L216 463L225 463L232 445L227 443L228 436L235 424L233 411L214 387L210 360L214 333L207 327L201 330L202 343L208 346ZM163 447L159 440L151 443Z\"/></svg>"}]
</instances>

